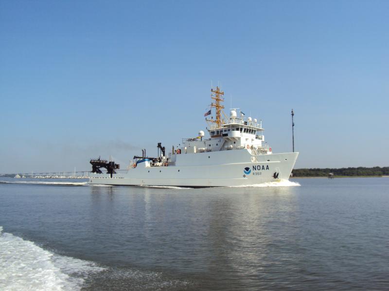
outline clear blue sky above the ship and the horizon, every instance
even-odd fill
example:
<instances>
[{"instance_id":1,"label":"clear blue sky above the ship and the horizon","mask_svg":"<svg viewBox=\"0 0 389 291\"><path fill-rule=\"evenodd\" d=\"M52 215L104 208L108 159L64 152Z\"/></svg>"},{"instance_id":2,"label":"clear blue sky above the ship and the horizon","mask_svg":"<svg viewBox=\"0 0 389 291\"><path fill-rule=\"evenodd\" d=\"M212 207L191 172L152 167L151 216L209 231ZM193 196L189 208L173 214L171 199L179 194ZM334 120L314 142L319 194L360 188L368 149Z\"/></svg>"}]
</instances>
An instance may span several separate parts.
<instances>
[{"instance_id":1,"label":"clear blue sky above the ship and the horizon","mask_svg":"<svg viewBox=\"0 0 389 291\"><path fill-rule=\"evenodd\" d=\"M125 168L211 85L295 168L389 165L389 1L0 0L0 173Z\"/></svg>"}]
</instances>

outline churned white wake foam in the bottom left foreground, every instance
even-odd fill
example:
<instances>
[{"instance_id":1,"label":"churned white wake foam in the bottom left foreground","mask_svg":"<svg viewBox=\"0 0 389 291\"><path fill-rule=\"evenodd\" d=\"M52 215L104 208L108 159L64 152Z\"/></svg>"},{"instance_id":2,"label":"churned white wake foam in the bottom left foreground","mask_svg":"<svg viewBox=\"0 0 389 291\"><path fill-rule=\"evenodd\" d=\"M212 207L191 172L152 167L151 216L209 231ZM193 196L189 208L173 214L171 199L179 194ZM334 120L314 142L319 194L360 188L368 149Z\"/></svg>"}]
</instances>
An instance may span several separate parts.
<instances>
[{"instance_id":1,"label":"churned white wake foam in the bottom left foreground","mask_svg":"<svg viewBox=\"0 0 389 291\"><path fill-rule=\"evenodd\" d=\"M0 290L80 290L84 279L104 269L93 262L59 256L0 226Z\"/></svg>"}]
</instances>

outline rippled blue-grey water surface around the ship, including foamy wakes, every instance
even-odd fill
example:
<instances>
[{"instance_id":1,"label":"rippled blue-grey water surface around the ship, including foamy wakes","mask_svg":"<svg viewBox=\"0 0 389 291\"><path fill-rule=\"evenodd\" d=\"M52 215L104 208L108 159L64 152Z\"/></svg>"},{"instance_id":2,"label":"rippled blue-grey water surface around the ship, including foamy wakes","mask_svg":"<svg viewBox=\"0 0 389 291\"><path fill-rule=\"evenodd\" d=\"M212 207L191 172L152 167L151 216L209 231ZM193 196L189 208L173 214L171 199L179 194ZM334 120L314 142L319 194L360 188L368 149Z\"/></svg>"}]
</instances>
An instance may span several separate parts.
<instances>
[{"instance_id":1,"label":"rippled blue-grey water surface around the ship, including foamy wakes","mask_svg":"<svg viewBox=\"0 0 389 291\"><path fill-rule=\"evenodd\" d=\"M2 179L0 290L389 290L388 209L389 178Z\"/></svg>"}]
</instances>

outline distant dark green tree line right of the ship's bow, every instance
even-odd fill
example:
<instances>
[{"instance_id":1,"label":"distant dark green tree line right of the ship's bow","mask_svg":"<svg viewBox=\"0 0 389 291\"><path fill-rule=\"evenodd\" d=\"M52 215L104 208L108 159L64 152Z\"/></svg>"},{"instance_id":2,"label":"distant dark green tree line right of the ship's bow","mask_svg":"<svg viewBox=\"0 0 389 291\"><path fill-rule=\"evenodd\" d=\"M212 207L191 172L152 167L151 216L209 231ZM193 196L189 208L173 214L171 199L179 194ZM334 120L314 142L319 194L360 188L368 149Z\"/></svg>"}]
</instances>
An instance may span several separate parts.
<instances>
[{"instance_id":1,"label":"distant dark green tree line right of the ship's bow","mask_svg":"<svg viewBox=\"0 0 389 291\"><path fill-rule=\"evenodd\" d=\"M327 177L329 173L336 176L389 176L389 167L357 167L357 168L339 168L339 169L294 169L293 177Z\"/></svg>"}]
</instances>

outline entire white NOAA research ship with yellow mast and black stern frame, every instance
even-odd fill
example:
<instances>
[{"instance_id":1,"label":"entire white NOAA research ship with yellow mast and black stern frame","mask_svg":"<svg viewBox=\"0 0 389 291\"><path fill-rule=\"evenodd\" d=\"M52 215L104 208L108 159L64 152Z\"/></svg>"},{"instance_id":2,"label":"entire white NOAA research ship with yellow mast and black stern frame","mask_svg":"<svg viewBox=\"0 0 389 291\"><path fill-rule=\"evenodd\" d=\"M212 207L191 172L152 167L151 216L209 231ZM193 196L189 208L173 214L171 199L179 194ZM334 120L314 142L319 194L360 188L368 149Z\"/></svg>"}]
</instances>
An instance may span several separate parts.
<instances>
[{"instance_id":1,"label":"entire white NOAA research ship with yellow mast and black stern frame","mask_svg":"<svg viewBox=\"0 0 389 291\"><path fill-rule=\"evenodd\" d=\"M111 160L91 159L89 184L199 188L287 180L299 153L273 153L265 143L262 120L246 117L239 108L226 115L223 96L219 87L211 88L212 103L204 114L207 137L200 130L195 137L183 138L168 153L158 143L155 157L142 149L124 171Z\"/></svg>"}]
</instances>

